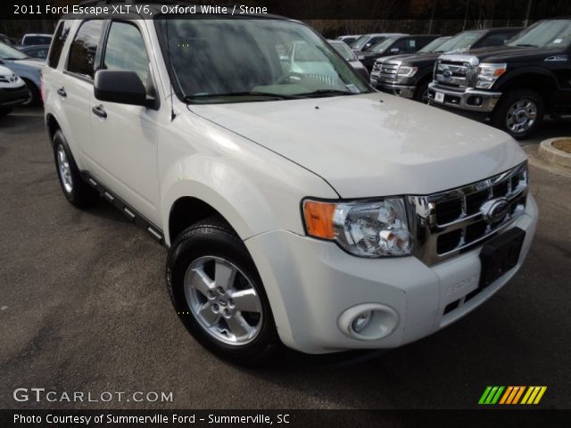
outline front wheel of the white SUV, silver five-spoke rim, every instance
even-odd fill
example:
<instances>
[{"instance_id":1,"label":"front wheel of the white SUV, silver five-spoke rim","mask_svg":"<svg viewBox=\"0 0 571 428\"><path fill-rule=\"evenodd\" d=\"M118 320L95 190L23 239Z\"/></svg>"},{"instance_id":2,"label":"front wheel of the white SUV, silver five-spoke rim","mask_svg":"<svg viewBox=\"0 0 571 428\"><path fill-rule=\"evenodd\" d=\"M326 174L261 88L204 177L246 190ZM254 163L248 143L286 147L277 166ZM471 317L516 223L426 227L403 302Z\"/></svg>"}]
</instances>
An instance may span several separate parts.
<instances>
[{"instance_id":1,"label":"front wheel of the white SUV, silver five-spoke rim","mask_svg":"<svg viewBox=\"0 0 571 428\"><path fill-rule=\"evenodd\" d=\"M166 273L178 317L204 348L242 366L269 362L278 343L269 300L244 243L222 219L178 235Z\"/></svg>"}]
</instances>

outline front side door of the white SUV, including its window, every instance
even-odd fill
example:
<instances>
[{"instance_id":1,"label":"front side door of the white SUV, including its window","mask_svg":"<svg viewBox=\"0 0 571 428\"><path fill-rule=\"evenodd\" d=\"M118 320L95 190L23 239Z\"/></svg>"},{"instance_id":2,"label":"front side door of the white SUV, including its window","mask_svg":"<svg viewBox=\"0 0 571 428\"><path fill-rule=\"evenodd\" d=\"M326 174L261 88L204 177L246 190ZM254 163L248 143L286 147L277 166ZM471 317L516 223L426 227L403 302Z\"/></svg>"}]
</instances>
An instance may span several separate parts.
<instances>
[{"instance_id":1,"label":"front side door of the white SUV, including its window","mask_svg":"<svg viewBox=\"0 0 571 428\"><path fill-rule=\"evenodd\" d=\"M102 70L134 71L147 94L156 96L148 45L140 22L112 21L103 46ZM147 220L160 224L158 108L101 102L95 96L90 103L94 141L87 156L95 167L94 175Z\"/></svg>"}]
</instances>

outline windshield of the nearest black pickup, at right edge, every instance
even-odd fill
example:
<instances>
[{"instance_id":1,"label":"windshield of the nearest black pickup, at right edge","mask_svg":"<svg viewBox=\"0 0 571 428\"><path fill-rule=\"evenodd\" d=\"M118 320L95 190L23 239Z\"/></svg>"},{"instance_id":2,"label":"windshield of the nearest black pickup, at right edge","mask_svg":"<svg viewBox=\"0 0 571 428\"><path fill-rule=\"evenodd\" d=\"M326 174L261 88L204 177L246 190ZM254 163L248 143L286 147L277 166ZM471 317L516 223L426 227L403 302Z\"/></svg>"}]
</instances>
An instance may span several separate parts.
<instances>
[{"instance_id":1,"label":"windshield of the nearest black pickup, at right edge","mask_svg":"<svg viewBox=\"0 0 571 428\"><path fill-rule=\"evenodd\" d=\"M571 44L571 20L540 21L518 33L507 45L565 48Z\"/></svg>"}]
</instances>

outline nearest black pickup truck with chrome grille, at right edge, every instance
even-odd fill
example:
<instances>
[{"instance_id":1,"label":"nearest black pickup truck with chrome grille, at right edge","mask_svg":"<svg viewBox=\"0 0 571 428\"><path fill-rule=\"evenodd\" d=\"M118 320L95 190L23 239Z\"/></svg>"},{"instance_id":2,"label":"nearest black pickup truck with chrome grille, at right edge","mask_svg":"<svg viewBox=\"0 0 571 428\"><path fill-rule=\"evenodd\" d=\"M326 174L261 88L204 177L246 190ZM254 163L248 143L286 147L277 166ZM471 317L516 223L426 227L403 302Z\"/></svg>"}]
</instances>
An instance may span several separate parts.
<instances>
[{"instance_id":1,"label":"nearest black pickup truck with chrome grille, at right edge","mask_svg":"<svg viewBox=\"0 0 571 428\"><path fill-rule=\"evenodd\" d=\"M571 18L539 21L501 47L441 55L430 103L481 115L515 138L571 114Z\"/></svg>"}]
</instances>

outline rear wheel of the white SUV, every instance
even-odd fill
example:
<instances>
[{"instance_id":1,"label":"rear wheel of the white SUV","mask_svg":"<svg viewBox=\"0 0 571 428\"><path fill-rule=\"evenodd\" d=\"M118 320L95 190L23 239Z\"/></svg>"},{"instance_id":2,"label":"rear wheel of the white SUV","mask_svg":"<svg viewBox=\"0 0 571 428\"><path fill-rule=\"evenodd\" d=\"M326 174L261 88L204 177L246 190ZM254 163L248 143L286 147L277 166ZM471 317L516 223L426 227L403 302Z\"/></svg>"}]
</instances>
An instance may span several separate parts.
<instances>
[{"instance_id":1,"label":"rear wheel of the white SUV","mask_svg":"<svg viewBox=\"0 0 571 428\"><path fill-rule=\"evenodd\" d=\"M78 166L73 160L70 147L62 130L54 134L54 159L57 177L60 179L62 191L67 200L78 208L87 208L99 199L99 193L87 185L79 174Z\"/></svg>"}]
</instances>

